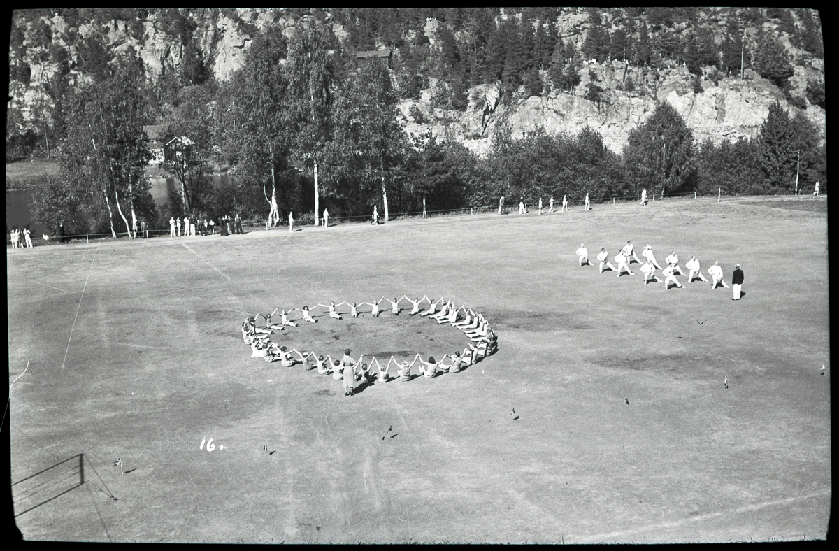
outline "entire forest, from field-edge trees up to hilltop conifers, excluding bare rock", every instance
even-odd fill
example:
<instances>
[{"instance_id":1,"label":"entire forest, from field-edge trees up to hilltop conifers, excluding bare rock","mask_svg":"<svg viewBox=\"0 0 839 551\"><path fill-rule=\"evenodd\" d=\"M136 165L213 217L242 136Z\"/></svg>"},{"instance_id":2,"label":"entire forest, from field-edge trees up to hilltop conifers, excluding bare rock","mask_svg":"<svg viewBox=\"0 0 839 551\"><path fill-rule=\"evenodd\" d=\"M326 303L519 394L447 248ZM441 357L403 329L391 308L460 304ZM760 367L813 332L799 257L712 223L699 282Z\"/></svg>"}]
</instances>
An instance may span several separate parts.
<instances>
[{"instance_id":1,"label":"entire forest, from field-edge trees up to hilltop conifers, excluding bare rock","mask_svg":"<svg viewBox=\"0 0 839 551\"><path fill-rule=\"evenodd\" d=\"M560 26L563 10L577 10L583 23ZM292 211L313 221L327 207L341 217L369 215L373 205L387 219L498 205L501 195L532 204L551 195L631 197L644 188L657 195L791 194L817 180L826 190L826 145L801 114L808 102L826 108L824 85L808 83L806 101L795 95L794 60L782 40L823 58L821 23L810 10L277 10L295 19L291 32L238 18L252 40L242 67L223 81L195 38L195 10L58 11L68 23L61 42L43 10L15 12L10 79L29 82L30 66L16 61L27 56L62 70L43 85L53 101L41 106L34 128L15 132L17 115L9 113L7 159L57 159L60 173L44 175L34 189L34 216L52 225L68 221L70 232L116 236L138 217L164 227L169 216L184 214L240 212L277 224ZM433 48L424 30L432 19L440 23ZM181 52L180 65L154 80L131 49L112 56L102 34L76 30L122 21L142 37L150 20ZM764 30L767 20L774 30ZM73 44L72 55L60 44ZM374 49L392 49L389 67L357 64L355 52ZM756 138L715 144L697 143L679 113L659 101L622 153L584 128L571 135L496 133L486 157L456 140L411 136L397 108L430 81L435 107L452 110L466 109L470 87L480 84L498 86L506 103L580 93L586 60L622 60L653 74L675 62L696 75L695 86L701 75L737 78L745 67L784 91L790 107L770 107ZM71 72L83 77L74 86ZM591 81L584 96L598 101L602 92ZM180 182L166 205L149 194L143 127L154 124L164 125L164 142L188 144L163 164ZM227 178L213 178L218 174Z\"/></svg>"}]
</instances>

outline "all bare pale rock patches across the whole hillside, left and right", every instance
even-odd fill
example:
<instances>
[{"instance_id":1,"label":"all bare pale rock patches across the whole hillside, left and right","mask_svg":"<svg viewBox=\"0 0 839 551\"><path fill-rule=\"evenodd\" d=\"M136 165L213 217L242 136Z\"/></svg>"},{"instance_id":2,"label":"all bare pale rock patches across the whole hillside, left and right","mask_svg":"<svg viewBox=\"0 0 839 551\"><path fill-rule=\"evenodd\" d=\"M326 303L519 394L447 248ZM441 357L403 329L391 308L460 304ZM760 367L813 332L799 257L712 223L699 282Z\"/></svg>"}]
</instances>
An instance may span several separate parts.
<instances>
[{"instance_id":1,"label":"all bare pale rock patches across the whole hillside, left and right","mask_svg":"<svg viewBox=\"0 0 839 551\"><path fill-rule=\"evenodd\" d=\"M229 80L244 63L245 53L252 42L248 29L279 26L288 36L297 24L277 10L268 9L204 9L193 10L190 14L197 25L192 39L197 41L206 64L220 81ZM560 19L560 30L569 31L584 22L586 17L581 12L568 14ZM44 18L44 21L53 31L55 44L65 47L70 52L70 59L76 60L76 47L66 44L62 38L66 36L64 33L67 25L64 19L55 14L51 18ZM425 34L432 45L439 24L432 20L425 25ZM338 24L333 24L333 31L339 39L347 36L346 30ZM81 25L78 29L82 37L102 32L102 28L94 29L91 23ZM180 65L183 47L179 39L163 32L159 16L149 17L144 23L142 39L136 38L136 34L136 30L132 33L127 29L127 22L124 21L108 25L104 38L113 60L121 55L139 56L152 81ZM581 34L576 34L575 38L579 43ZM59 65L49 60L43 61L43 56L42 60L36 60L34 55L28 57L31 59L15 61L29 63L32 69L29 86L19 81L11 81L9 86L13 98L9 107L20 112L23 127L32 125L34 112L43 111L39 105L51 105L52 100L40 85L50 81L60 70ZM709 72L711 68L706 68L706 73ZM424 91L418 101L402 101L399 111L410 134L430 132L443 140L461 142L480 155L489 151L492 136L504 127L510 129L513 138L521 138L539 129L551 135L573 134L588 126L602 134L608 148L620 153L627 143L629 132L646 122L657 101L668 101L675 107L693 131L696 143L706 138L714 143L740 137L754 138L774 101L780 101L792 112L800 111L797 107L789 106L776 86L750 70L746 71L745 80L730 76L715 84L704 78L701 81L703 91L700 93L693 91L693 76L685 67L641 70L613 61L584 65L580 75L581 83L573 94L552 92L549 96L520 97L509 105L503 105L500 101L500 84L484 84L470 89L465 112L435 108L430 90ZM76 70L71 70L70 76L71 81L83 78ZM542 76L546 78L544 72ZM635 83L634 91L623 90L628 78ZM592 79L604 91L602 101L598 103L584 98L587 85ZM435 86L434 79L430 80L432 86ZM796 91L803 91L807 81L823 80L821 60L812 60L810 66L795 65L795 75L790 79ZM824 110L809 106L802 112L819 128L821 141L824 142Z\"/></svg>"}]
</instances>

